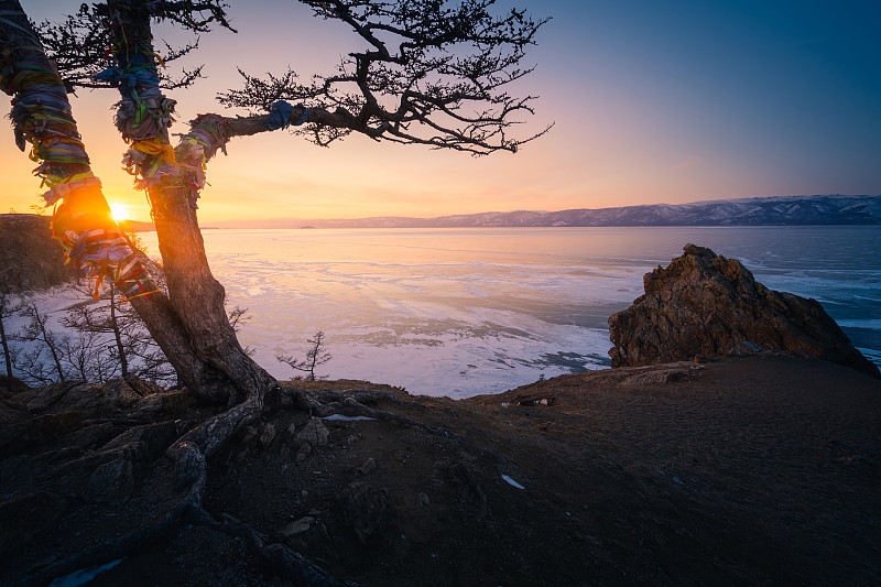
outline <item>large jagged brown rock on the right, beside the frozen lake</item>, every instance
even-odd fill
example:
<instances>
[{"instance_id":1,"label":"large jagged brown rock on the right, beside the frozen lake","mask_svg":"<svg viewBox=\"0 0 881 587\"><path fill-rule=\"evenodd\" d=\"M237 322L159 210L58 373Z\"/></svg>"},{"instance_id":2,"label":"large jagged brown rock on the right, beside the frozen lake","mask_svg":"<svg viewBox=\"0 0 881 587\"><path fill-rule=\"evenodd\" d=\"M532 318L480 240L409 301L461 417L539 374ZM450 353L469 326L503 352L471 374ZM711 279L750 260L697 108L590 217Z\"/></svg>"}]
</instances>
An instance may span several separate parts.
<instances>
[{"instance_id":1,"label":"large jagged brown rock on the right, beside the frozen lake","mask_svg":"<svg viewBox=\"0 0 881 587\"><path fill-rule=\"evenodd\" d=\"M609 318L612 367L773 349L880 377L816 300L771 291L740 261L704 247L684 251L646 273L645 295Z\"/></svg>"}]
</instances>

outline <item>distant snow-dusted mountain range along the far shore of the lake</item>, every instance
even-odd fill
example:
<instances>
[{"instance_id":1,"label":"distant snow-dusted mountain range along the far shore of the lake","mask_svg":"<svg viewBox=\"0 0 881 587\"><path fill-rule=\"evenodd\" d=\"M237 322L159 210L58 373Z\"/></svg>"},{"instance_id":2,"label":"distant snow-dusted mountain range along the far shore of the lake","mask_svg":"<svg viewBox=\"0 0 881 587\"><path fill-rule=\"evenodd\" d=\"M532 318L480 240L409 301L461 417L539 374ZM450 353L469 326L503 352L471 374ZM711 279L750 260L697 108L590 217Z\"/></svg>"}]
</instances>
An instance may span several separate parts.
<instances>
[{"instance_id":1,"label":"distant snow-dusted mountain range along the far shore of the lake","mask_svg":"<svg viewBox=\"0 0 881 587\"><path fill-rule=\"evenodd\" d=\"M881 225L881 196L776 196L559 211L487 211L407 218L268 218L218 228L469 228L602 226Z\"/></svg>"}]
</instances>

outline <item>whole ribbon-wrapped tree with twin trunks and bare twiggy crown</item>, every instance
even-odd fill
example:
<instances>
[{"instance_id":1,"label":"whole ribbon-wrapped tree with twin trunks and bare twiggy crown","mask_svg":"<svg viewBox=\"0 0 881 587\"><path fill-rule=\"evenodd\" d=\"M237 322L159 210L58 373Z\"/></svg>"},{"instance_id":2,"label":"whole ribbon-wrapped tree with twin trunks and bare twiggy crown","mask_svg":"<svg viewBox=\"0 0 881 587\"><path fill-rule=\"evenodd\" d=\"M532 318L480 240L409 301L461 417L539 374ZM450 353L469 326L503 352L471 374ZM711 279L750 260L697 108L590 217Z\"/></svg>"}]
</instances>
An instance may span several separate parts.
<instances>
[{"instance_id":1,"label":"whole ribbon-wrapped tree with twin trunks and bare twiggy crown","mask_svg":"<svg viewBox=\"0 0 881 587\"><path fill-rule=\"evenodd\" d=\"M493 15L494 0L298 1L319 19L346 24L363 48L306 84L290 68L268 79L242 73L244 87L219 99L252 115L202 115L173 146L175 101L160 87L152 22L163 19L197 34L232 30L221 0L108 0L61 24L44 23L40 34L18 0L0 0L0 89L14 98L15 141L22 150L32 143L36 174L48 186L47 205L59 203L56 238L69 261L89 271L96 289L101 282L119 287L191 393L228 406L168 449L178 482L191 488L175 509L177 520L184 512L208 515L200 506L206 457L260 417L270 399L319 414L359 406L351 399L281 389L237 340L196 216L217 151L236 137L290 128L320 145L360 133L483 155L514 152L547 130L515 132L532 113L533 97L507 91L531 72L521 62L544 20L518 10ZM174 84L185 86L197 76L184 72ZM116 126L128 143L123 161L150 198L166 290L112 221L67 99L66 89L77 86L119 89ZM287 551L283 556L285 565L309 577L304 584L338 584L302 557Z\"/></svg>"}]
</instances>

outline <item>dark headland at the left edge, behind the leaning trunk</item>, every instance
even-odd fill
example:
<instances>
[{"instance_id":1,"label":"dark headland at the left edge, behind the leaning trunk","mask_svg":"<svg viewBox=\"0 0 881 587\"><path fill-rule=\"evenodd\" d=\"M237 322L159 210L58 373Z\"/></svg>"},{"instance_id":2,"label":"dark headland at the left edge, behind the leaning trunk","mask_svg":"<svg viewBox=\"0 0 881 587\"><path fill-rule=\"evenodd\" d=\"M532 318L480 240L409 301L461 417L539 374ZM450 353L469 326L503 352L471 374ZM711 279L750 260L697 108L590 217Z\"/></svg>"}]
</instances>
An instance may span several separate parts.
<instances>
[{"instance_id":1,"label":"dark headland at the left edge, behind the leaning trunk","mask_svg":"<svg viewBox=\"0 0 881 587\"><path fill-rule=\"evenodd\" d=\"M0 291L45 290L76 276L48 224L47 216L0 215Z\"/></svg>"}]
</instances>

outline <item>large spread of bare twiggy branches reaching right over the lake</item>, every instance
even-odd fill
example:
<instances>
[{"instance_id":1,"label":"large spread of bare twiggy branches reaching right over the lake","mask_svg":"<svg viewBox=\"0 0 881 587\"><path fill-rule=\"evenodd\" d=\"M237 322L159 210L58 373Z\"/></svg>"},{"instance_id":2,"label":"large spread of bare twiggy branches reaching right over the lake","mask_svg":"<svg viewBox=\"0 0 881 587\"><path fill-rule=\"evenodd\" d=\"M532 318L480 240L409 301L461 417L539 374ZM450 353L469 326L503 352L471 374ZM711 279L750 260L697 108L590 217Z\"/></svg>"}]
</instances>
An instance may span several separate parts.
<instances>
[{"instance_id":1,"label":"large spread of bare twiggy branches reaching right over the lake","mask_svg":"<svg viewBox=\"0 0 881 587\"><path fill-rule=\"evenodd\" d=\"M482 155L514 152L550 130L514 135L535 97L508 93L532 72L521 62L547 19L519 10L494 17L494 0L300 1L351 26L367 47L309 83L290 68L265 78L239 70L242 89L219 95L221 104L269 111L279 100L301 102L306 126L294 132L319 145L359 132Z\"/></svg>"}]
</instances>

